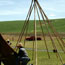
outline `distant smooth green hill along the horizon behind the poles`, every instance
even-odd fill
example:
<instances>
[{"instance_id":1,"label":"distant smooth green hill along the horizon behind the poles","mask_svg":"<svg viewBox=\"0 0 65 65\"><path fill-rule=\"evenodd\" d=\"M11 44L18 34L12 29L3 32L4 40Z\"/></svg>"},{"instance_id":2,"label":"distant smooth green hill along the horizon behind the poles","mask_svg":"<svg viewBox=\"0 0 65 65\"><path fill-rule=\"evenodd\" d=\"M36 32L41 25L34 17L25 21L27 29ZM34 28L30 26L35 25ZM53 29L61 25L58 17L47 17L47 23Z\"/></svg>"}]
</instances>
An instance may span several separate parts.
<instances>
[{"instance_id":1,"label":"distant smooth green hill along the horizon behind the poles","mask_svg":"<svg viewBox=\"0 0 65 65\"><path fill-rule=\"evenodd\" d=\"M53 19L51 20L52 25L56 29L57 32L65 33L65 19ZM0 22L0 33L18 33L21 32L24 21L3 21ZM47 32L44 23L43 30ZM33 21L30 21L29 24L29 32L32 32L34 29ZM37 32L40 32L39 22L37 22Z\"/></svg>"}]
</instances>

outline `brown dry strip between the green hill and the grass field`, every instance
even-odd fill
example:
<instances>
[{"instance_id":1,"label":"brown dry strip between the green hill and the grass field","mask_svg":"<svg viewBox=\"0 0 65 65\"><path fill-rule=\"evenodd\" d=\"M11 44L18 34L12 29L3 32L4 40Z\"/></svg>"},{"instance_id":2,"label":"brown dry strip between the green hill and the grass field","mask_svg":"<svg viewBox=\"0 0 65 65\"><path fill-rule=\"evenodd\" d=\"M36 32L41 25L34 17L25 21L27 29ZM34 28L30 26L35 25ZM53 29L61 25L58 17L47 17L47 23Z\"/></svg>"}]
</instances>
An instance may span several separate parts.
<instances>
[{"instance_id":1,"label":"brown dry strip between the green hill and the grass field","mask_svg":"<svg viewBox=\"0 0 65 65\"><path fill-rule=\"evenodd\" d=\"M33 34L28 34L27 37L32 36L32 35ZM3 36L3 38L5 40L10 39L12 41L14 41L14 40L17 41L18 38L19 38L19 34L2 34L2 36ZM43 37L43 35L41 33L38 34L38 36L40 36L41 38ZM45 36L48 38L49 37L49 34L45 34ZM54 34L52 34L52 36L55 37ZM65 34L64 33L63 34L60 34L60 36L61 36L61 38L65 38ZM23 36L23 39L24 39L24 36Z\"/></svg>"}]
</instances>

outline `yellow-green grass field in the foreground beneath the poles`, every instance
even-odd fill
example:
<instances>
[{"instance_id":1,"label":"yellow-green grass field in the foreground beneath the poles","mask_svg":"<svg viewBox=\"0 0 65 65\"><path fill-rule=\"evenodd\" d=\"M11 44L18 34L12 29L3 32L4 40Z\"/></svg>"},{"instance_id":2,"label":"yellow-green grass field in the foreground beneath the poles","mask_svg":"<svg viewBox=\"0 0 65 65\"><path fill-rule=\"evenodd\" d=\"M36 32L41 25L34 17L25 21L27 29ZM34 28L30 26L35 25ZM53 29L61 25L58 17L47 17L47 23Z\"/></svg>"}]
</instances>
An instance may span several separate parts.
<instances>
[{"instance_id":1,"label":"yellow-green grass field in the foreground beneath the poles","mask_svg":"<svg viewBox=\"0 0 65 65\"><path fill-rule=\"evenodd\" d=\"M54 38L55 39L55 38ZM65 39L63 39L65 41ZM16 42L12 42L12 46L15 46ZM24 43L24 41L22 41L22 43ZM23 44L24 45L24 44ZM63 60L63 63L65 63L65 54L62 52L61 47L59 46L58 42L55 39L55 45L59 51L59 54ZM45 47L45 43L44 41L37 41L37 60L38 60L38 65L62 65L59 57L56 56L56 53L53 53L53 46L52 43L50 41L50 39L47 38L47 46L48 46L48 50L49 50L49 54L50 54L50 59L48 58L48 54ZM28 55L31 59L31 61L29 63L35 63L35 55L33 54L33 42L32 41L26 41L25 44L25 48L28 52ZM31 48L31 49L28 49ZM63 47L64 48L64 47ZM65 50L65 48L64 48ZM32 55L33 54L33 55ZM34 58L34 60L32 60L32 57Z\"/></svg>"}]
</instances>

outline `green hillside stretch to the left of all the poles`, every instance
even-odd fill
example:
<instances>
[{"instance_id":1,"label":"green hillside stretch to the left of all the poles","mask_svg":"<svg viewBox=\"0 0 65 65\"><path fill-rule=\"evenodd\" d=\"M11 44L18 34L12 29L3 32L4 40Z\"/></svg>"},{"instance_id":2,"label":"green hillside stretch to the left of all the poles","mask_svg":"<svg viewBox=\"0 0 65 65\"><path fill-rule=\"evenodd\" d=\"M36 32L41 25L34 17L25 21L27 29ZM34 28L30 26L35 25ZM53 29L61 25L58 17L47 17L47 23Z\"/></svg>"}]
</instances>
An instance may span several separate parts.
<instances>
[{"instance_id":1,"label":"green hillside stretch to the left of all the poles","mask_svg":"<svg viewBox=\"0 0 65 65\"><path fill-rule=\"evenodd\" d=\"M6 22L0 22L0 32L4 33L14 33L14 32L20 32L23 21L6 21Z\"/></svg>"}]
</instances>

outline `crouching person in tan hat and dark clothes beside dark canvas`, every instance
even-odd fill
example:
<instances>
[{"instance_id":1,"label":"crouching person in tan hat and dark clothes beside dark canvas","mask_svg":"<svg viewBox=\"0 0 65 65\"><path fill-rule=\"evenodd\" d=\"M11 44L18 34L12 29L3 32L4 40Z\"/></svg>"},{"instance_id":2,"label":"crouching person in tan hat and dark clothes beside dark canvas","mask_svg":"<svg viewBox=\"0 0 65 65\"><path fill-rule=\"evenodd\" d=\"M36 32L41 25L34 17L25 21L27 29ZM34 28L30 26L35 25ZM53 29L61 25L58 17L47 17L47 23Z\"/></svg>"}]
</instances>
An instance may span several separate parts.
<instances>
[{"instance_id":1,"label":"crouching person in tan hat and dark clothes beside dark canvas","mask_svg":"<svg viewBox=\"0 0 65 65\"><path fill-rule=\"evenodd\" d=\"M30 58L28 57L28 54L23 47L22 43L17 44L17 48L19 48L18 52L18 59L19 62L21 62L21 65L27 65L27 63L30 61Z\"/></svg>"}]
</instances>

